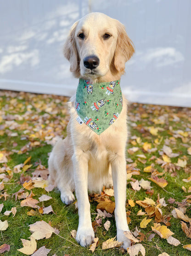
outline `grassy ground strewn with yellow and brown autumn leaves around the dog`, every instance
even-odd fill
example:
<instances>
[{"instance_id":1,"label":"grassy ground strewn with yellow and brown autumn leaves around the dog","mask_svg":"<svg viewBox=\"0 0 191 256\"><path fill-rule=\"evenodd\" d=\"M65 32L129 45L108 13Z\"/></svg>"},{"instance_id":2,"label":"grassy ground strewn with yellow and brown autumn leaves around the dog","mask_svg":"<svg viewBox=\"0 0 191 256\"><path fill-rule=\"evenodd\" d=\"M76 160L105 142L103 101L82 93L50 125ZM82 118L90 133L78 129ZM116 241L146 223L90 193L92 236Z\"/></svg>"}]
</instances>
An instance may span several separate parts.
<instances>
[{"instance_id":1,"label":"grassy ground strewn with yellow and brown autumn leaves around the dog","mask_svg":"<svg viewBox=\"0 0 191 256\"><path fill-rule=\"evenodd\" d=\"M92 253L71 236L78 227L76 204L64 205L59 191L47 188L48 155L56 138L66 136L67 101L63 96L0 91L2 255L23 255L17 250L23 247L21 238L30 240L29 225L39 220L55 229L50 238L35 238L37 245L29 255L42 246L57 256L127 254L119 247L102 247L116 235L112 190L90 195L92 225L99 238ZM142 244L147 256L191 255L183 248L191 244L191 108L129 103L128 116L126 209L129 228L138 239L133 244ZM98 215L99 209L112 216ZM169 244L170 231L180 243Z\"/></svg>"}]
</instances>

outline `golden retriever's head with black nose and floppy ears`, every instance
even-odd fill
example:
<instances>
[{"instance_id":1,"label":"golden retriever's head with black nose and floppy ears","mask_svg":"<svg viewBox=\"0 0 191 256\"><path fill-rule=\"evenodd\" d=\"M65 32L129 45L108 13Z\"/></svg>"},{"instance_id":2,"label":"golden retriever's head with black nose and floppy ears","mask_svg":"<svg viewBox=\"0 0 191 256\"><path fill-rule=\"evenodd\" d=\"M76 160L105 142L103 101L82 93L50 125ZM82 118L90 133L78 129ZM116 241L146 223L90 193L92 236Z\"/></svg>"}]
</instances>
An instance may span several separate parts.
<instances>
[{"instance_id":1,"label":"golden retriever's head with black nose and floppy ears","mask_svg":"<svg viewBox=\"0 0 191 256\"><path fill-rule=\"evenodd\" d=\"M64 56L70 62L75 77L104 77L124 73L125 62L134 53L124 25L99 12L92 12L73 24Z\"/></svg>"}]
</instances>

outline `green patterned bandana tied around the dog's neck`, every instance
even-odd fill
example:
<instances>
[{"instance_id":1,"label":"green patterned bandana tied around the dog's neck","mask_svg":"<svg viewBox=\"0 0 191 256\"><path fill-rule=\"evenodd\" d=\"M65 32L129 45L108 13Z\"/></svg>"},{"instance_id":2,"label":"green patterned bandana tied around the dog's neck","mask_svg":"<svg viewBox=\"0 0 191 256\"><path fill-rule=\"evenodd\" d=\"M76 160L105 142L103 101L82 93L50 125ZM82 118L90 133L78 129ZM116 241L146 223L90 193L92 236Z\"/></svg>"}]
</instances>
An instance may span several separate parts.
<instances>
[{"instance_id":1,"label":"green patterned bandana tied around the dog's neck","mask_svg":"<svg viewBox=\"0 0 191 256\"><path fill-rule=\"evenodd\" d=\"M123 98L120 80L91 84L79 79L75 104L79 124L85 123L97 134L101 134L121 113Z\"/></svg>"}]
</instances>

